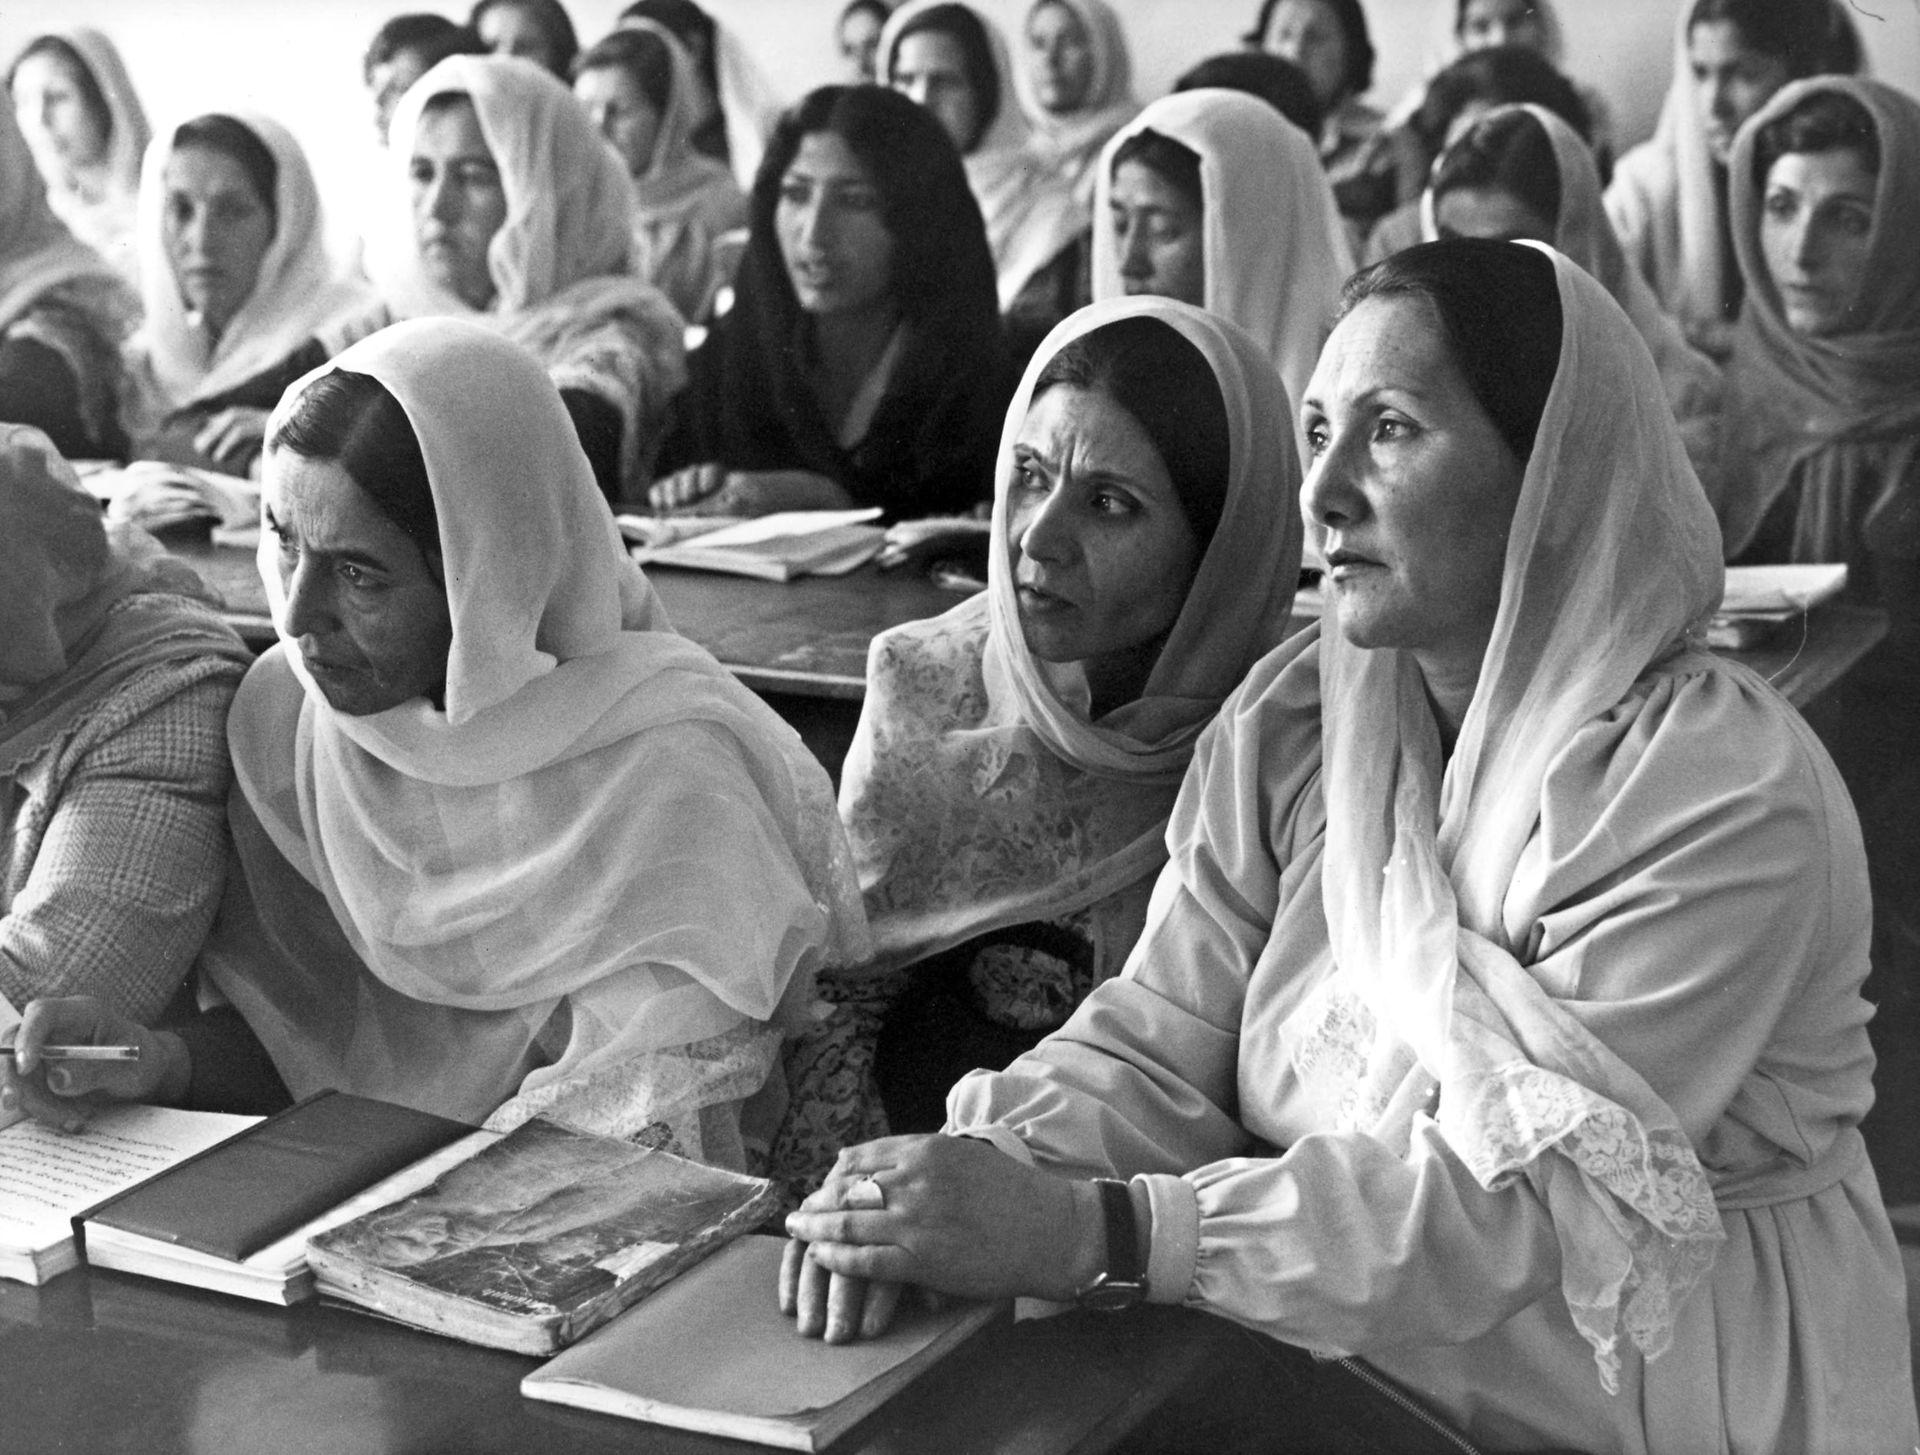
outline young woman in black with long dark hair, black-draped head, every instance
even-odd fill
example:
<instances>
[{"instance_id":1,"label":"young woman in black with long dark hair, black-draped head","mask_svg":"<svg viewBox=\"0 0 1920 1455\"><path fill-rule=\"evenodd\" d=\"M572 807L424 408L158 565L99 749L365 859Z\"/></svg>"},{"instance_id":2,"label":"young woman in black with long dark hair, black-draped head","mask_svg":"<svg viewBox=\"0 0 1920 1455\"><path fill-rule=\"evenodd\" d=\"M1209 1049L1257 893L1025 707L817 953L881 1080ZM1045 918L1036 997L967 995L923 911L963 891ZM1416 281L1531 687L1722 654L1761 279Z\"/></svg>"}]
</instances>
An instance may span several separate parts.
<instances>
[{"instance_id":1,"label":"young woman in black with long dark hair, black-draped head","mask_svg":"<svg viewBox=\"0 0 1920 1455\"><path fill-rule=\"evenodd\" d=\"M985 499L1004 403L993 261L939 123L879 86L789 111L753 186L732 311L691 359L660 509Z\"/></svg>"}]
</instances>

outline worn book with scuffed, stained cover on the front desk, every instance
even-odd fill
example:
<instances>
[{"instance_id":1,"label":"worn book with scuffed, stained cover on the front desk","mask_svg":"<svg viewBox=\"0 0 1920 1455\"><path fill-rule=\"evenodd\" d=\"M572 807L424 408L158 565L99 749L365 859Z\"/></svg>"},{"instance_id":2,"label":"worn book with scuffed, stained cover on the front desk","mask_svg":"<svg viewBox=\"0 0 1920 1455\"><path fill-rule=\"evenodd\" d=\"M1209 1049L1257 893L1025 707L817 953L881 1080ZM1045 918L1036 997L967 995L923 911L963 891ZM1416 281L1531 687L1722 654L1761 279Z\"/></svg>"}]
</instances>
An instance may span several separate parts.
<instances>
[{"instance_id":1,"label":"worn book with scuffed, stained cover on the front desk","mask_svg":"<svg viewBox=\"0 0 1920 1455\"><path fill-rule=\"evenodd\" d=\"M758 1177L536 1117L432 1186L307 1246L319 1292L553 1353L762 1223Z\"/></svg>"}]
</instances>

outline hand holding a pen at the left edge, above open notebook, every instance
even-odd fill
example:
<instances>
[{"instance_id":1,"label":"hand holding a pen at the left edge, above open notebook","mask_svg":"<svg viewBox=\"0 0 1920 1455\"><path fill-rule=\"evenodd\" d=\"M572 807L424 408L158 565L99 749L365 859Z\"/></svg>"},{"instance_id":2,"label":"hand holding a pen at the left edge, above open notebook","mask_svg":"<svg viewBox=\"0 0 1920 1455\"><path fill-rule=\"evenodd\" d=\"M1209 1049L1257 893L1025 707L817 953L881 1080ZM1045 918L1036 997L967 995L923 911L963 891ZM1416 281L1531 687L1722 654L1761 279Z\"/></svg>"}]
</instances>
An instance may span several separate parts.
<instances>
[{"instance_id":1,"label":"hand holding a pen at the left edge, above open notebook","mask_svg":"<svg viewBox=\"0 0 1920 1455\"><path fill-rule=\"evenodd\" d=\"M0 1035L0 1109L25 1111L48 1127L77 1133L98 1106L177 1102L192 1071L186 1044L154 1031L92 996L33 1000L19 1025ZM46 1061L42 1046L138 1046L136 1061Z\"/></svg>"}]
</instances>

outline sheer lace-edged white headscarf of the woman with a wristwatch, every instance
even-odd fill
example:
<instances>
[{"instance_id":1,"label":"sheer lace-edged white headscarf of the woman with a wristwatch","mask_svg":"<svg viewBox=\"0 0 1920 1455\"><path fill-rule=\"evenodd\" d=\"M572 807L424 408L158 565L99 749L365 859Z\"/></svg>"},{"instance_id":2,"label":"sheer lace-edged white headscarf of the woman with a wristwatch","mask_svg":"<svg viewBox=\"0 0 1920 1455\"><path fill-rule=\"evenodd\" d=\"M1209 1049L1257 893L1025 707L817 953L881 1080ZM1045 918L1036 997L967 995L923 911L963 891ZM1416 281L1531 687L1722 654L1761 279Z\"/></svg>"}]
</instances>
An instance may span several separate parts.
<instances>
[{"instance_id":1,"label":"sheer lace-edged white headscarf of the woman with a wristwatch","mask_svg":"<svg viewBox=\"0 0 1920 1455\"><path fill-rule=\"evenodd\" d=\"M1559 365L1452 758L1411 655L1319 637L1336 969L1294 1056L1342 1129L1404 1150L1430 1109L1484 1186L1528 1179L1613 1390L1619 1334L1667 1348L1720 1219L1672 1109L1526 973L1501 906L1555 756L1718 605L1720 532L1634 324L1549 255Z\"/></svg>"}]
</instances>

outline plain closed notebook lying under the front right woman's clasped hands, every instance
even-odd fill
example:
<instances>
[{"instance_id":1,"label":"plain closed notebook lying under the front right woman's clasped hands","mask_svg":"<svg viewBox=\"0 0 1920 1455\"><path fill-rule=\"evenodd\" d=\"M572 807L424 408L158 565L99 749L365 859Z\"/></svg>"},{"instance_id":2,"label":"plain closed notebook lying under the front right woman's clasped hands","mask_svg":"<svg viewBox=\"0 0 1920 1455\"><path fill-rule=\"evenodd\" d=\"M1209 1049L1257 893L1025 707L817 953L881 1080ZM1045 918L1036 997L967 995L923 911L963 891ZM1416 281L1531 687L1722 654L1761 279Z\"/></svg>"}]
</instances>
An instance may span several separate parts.
<instances>
[{"instance_id":1,"label":"plain closed notebook lying under the front right woman's clasped hands","mask_svg":"<svg viewBox=\"0 0 1920 1455\"><path fill-rule=\"evenodd\" d=\"M722 1248L520 1380L520 1394L680 1430L780 1449L822 1449L981 1326L1006 1303L941 1311L900 1300L876 1340L801 1338L774 1290L785 1238Z\"/></svg>"}]
</instances>

